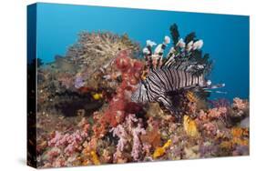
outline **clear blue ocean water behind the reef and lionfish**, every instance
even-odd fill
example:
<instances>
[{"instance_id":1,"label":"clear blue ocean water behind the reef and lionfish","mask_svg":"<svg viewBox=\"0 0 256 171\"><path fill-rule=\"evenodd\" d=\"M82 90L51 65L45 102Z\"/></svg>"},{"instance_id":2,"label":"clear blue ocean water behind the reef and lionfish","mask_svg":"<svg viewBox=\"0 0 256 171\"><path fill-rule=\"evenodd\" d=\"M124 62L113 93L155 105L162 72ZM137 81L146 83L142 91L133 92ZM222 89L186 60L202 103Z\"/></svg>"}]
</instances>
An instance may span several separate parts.
<instances>
[{"instance_id":1,"label":"clear blue ocean water behind the reef and lionfish","mask_svg":"<svg viewBox=\"0 0 256 171\"><path fill-rule=\"evenodd\" d=\"M249 98L249 16L39 3L37 57L47 63L65 55L81 31L127 33L142 47L147 39L161 43L173 23L181 37L195 31L203 39L202 50L214 61L211 82L226 84L221 91L227 95L213 93L211 98Z\"/></svg>"}]
</instances>

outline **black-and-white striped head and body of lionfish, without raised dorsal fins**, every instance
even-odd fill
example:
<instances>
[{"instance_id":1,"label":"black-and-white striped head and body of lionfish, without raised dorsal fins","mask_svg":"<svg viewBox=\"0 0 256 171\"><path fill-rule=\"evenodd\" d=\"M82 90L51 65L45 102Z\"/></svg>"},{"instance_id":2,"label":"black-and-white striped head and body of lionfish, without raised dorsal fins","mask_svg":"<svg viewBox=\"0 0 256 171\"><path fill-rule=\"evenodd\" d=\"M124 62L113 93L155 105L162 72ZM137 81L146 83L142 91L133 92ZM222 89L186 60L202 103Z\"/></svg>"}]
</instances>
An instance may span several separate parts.
<instances>
[{"instance_id":1,"label":"black-and-white striped head and body of lionfish, without raised dorsal fins","mask_svg":"<svg viewBox=\"0 0 256 171\"><path fill-rule=\"evenodd\" d=\"M186 70L162 67L152 68L145 80L142 80L131 99L137 103L159 102L173 111L171 92L206 85L203 75L193 75Z\"/></svg>"}]
</instances>

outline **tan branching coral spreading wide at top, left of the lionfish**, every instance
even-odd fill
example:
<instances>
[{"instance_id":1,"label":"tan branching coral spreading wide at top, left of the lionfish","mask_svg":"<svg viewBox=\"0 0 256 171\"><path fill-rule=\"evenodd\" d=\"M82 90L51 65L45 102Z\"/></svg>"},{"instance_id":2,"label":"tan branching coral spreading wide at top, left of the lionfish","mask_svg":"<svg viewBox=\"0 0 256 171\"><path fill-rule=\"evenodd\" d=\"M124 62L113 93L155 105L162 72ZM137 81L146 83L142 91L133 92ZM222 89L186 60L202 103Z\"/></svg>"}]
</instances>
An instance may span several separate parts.
<instances>
[{"instance_id":1,"label":"tan branching coral spreading wide at top, left of the lionfish","mask_svg":"<svg viewBox=\"0 0 256 171\"><path fill-rule=\"evenodd\" d=\"M67 59L74 61L81 71L87 68L88 76L84 77L85 85L93 86L100 80L97 76L102 71L105 72L120 51L128 50L137 54L138 48L138 44L130 41L128 35L83 32L79 34L77 44L68 49ZM99 68L101 71L98 70Z\"/></svg>"}]
</instances>

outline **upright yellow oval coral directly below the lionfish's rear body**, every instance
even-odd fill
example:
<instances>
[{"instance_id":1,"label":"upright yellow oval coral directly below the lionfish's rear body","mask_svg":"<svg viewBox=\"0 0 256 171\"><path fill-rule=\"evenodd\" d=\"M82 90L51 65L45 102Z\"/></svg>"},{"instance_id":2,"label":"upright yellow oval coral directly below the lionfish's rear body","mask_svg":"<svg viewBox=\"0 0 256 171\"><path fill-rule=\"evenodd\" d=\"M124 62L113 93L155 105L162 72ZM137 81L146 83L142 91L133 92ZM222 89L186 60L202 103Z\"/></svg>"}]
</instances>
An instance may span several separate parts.
<instances>
[{"instance_id":1,"label":"upright yellow oval coral directly below the lionfish's rear body","mask_svg":"<svg viewBox=\"0 0 256 171\"><path fill-rule=\"evenodd\" d=\"M183 127L188 136L199 136L197 125L189 116L183 117Z\"/></svg>"}]
</instances>

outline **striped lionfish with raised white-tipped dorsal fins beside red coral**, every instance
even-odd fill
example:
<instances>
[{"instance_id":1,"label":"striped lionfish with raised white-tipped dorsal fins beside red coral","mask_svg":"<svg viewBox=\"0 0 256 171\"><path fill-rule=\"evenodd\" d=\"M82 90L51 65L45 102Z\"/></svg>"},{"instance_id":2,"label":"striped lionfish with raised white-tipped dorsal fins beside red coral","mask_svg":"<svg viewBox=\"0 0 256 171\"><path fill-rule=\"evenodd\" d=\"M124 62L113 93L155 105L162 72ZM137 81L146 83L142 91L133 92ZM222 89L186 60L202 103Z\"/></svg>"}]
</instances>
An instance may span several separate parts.
<instances>
[{"instance_id":1,"label":"striped lionfish with raised white-tipped dorsal fins beside red coral","mask_svg":"<svg viewBox=\"0 0 256 171\"><path fill-rule=\"evenodd\" d=\"M208 61L209 55L201 57L200 48L203 41L195 40L195 34L191 33L187 35L184 42L182 38L179 39L177 25L172 25L170 30L174 46L170 48L165 58L163 55L170 42L169 36L165 36L164 42L157 45L154 53L152 47L156 44L150 40L147 41L143 55L146 60L148 75L140 81L138 89L131 96L131 100L142 104L158 102L177 116L177 108L173 106L170 98L172 93L187 89L220 88L224 84L211 85L210 80L205 78L211 63Z\"/></svg>"}]
</instances>

